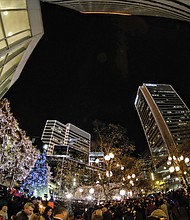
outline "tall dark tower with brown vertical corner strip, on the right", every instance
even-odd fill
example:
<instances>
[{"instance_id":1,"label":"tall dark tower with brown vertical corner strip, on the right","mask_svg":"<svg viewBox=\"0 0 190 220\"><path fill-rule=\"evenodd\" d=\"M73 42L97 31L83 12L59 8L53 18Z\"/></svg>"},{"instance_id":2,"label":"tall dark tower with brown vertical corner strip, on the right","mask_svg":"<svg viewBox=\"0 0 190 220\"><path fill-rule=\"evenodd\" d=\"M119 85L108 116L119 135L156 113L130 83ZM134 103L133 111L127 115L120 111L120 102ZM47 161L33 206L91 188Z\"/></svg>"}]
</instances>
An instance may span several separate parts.
<instances>
[{"instance_id":1,"label":"tall dark tower with brown vertical corner strip, on the right","mask_svg":"<svg viewBox=\"0 0 190 220\"><path fill-rule=\"evenodd\" d=\"M143 84L135 107L155 167L190 142L190 111L171 85Z\"/></svg>"}]
</instances>

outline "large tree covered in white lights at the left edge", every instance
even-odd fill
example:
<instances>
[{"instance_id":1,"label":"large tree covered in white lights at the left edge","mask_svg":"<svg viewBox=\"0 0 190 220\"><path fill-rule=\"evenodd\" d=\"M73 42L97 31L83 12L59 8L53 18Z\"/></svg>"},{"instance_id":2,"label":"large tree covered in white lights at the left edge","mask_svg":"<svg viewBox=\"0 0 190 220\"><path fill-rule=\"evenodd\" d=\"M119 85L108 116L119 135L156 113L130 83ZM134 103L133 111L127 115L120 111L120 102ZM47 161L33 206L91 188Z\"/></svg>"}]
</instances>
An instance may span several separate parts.
<instances>
[{"instance_id":1,"label":"large tree covered in white lights at the left edge","mask_svg":"<svg viewBox=\"0 0 190 220\"><path fill-rule=\"evenodd\" d=\"M21 183L39 157L26 132L10 111L7 99L0 100L0 183Z\"/></svg>"}]
</instances>

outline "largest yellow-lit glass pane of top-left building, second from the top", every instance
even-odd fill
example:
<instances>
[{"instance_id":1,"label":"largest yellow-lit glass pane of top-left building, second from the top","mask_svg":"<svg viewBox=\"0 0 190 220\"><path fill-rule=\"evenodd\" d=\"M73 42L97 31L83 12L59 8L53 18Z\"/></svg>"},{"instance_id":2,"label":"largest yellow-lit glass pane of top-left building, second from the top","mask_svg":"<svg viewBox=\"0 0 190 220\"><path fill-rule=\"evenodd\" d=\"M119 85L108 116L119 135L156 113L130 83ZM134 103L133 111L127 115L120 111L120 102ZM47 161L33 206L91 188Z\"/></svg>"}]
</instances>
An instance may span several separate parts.
<instances>
[{"instance_id":1,"label":"largest yellow-lit glass pane of top-left building, second from the top","mask_svg":"<svg viewBox=\"0 0 190 220\"><path fill-rule=\"evenodd\" d=\"M30 28L26 10L1 12L1 16L7 37Z\"/></svg>"}]
</instances>

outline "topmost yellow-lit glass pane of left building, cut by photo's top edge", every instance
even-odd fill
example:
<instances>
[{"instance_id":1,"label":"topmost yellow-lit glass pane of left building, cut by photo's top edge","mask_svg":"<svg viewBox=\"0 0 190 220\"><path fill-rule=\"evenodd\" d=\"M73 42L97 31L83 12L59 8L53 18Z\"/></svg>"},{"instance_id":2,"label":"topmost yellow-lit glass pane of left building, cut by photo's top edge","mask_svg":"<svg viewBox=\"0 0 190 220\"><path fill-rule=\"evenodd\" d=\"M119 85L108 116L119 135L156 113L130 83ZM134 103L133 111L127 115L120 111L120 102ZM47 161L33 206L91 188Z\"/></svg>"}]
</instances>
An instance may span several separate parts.
<instances>
[{"instance_id":1,"label":"topmost yellow-lit glass pane of left building, cut by photo's top edge","mask_svg":"<svg viewBox=\"0 0 190 220\"><path fill-rule=\"evenodd\" d=\"M26 0L1 0L0 9L26 8Z\"/></svg>"}]
</instances>

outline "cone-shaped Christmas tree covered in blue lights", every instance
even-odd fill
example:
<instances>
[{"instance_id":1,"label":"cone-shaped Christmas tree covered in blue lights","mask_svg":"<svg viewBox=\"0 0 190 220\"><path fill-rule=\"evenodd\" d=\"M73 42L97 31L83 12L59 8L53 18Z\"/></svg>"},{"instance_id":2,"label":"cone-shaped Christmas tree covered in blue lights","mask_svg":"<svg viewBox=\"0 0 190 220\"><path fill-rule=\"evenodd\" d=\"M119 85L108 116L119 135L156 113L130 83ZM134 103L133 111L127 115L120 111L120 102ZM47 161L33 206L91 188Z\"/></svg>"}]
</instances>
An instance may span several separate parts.
<instances>
[{"instance_id":1,"label":"cone-shaped Christmas tree covered in blue lights","mask_svg":"<svg viewBox=\"0 0 190 220\"><path fill-rule=\"evenodd\" d=\"M44 150L25 179L21 190L28 191L30 196L43 197L44 194L48 194L48 182L50 179L50 167L47 164L46 151Z\"/></svg>"}]
</instances>

